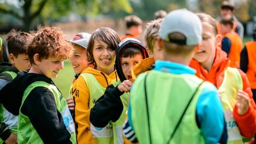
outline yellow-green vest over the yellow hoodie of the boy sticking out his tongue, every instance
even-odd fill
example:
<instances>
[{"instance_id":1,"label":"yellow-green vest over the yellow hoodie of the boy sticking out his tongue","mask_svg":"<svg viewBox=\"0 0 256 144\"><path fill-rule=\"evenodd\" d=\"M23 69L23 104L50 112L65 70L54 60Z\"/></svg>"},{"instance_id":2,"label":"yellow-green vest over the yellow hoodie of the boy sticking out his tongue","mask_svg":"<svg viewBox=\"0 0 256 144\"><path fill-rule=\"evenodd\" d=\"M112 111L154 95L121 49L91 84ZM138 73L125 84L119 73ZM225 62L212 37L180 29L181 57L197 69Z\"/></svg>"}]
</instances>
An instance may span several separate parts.
<instances>
[{"instance_id":1,"label":"yellow-green vest over the yellow hoodie of the boy sticking out his tongue","mask_svg":"<svg viewBox=\"0 0 256 144\"><path fill-rule=\"evenodd\" d=\"M90 93L90 109L94 106L94 102L97 101L105 92L106 88L101 86L93 74L84 73L81 74L84 78L86 86ZM109 122L105 127L95 127L91 124L90 131L96 143L99 144L111 144L113 143L113 124Z\"/></svg>"}]
</instances>

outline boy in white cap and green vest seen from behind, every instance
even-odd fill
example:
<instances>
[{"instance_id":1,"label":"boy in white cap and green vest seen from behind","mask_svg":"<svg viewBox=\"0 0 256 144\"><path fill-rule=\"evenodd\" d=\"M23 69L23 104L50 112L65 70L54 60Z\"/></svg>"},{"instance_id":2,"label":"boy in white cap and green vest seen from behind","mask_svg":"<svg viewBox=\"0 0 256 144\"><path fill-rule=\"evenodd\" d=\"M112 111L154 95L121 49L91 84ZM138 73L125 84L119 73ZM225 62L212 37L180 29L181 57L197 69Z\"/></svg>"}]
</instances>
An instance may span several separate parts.
<instances>
[{"instance_id":1,"label":"boy in white cap and green vest seen from behind","mask_svg":"<svg viewBox=\"0 0 256 144\"><path fill-rule=\"evenodd\" d=\"M196 14L175 10L166 15L158 45L164 61L133 83L125 137L140 143L218 143L224 116L218 92L188 67L202 41Z\"/></svg>"}]
</instances>

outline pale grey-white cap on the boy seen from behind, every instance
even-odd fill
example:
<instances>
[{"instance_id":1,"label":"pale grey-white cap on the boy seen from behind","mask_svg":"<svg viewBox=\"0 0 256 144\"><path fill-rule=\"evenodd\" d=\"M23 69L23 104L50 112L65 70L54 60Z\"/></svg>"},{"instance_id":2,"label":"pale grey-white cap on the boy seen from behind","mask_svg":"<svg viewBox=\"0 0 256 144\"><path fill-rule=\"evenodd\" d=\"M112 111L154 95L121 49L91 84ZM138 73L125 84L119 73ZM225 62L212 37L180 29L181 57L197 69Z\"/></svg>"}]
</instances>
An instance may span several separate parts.
<instances>
[{"instance_id":1,"label":"pale grey-white cap on the boy seen from behind","mask_svg":"<svg viewBox=\"0 0 256 144\"><path fill-rule=\"evenodd\" d=\"M181 33L186 39L170 38L172 33ZM171 11L164 18L159 37L167 42L193 46L202 41L202 23L197 15L187 9Z\"/></svg>"}]
</instances>

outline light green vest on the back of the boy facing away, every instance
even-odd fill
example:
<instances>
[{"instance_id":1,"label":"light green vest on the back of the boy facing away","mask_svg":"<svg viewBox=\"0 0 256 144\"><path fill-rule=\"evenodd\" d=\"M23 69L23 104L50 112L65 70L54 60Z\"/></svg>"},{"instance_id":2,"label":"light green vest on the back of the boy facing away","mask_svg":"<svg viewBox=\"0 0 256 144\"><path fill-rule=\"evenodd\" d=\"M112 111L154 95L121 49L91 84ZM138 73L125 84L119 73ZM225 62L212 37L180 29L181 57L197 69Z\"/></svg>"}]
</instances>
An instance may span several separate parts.
<instances>
[{"instance_id":1,"label":"light green vest on the back of the boy facing away","mask_svg":"<svg viewBox=\"0 0 256 144\"><path fill-rule=\"evenodd\" d=\"M138 82L137 79L138 83L134 83L130 96L131 122L140 143L150 141L145 98L146 75L139 76L143 80ZM152 143L167 143L202 79L190 74L177 75L156 70L146 78L151 140ZM205 143L196 124L196 104L206 83L198 88L170 143Z\"/></svg>"}]
</instances>

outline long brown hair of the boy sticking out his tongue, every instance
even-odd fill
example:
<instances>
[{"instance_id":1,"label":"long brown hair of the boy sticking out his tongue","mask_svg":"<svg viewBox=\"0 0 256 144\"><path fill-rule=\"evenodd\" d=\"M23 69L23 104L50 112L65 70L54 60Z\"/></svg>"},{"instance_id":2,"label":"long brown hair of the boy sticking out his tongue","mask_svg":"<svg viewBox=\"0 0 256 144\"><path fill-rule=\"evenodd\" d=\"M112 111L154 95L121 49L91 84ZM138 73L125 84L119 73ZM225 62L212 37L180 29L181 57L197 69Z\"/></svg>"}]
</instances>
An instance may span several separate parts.
<instances>
[{"instance_id":1,"label":"long brown hair of the boy sticking out his tongue","mask_svg":"<svg viewBox=\"0 0 256 144\"><path fill-rule=\"evenodd\" d=\"M87 46L87 59L89 65L93 65L94 67L97 66L93 58L93 46L95 39L101 39L103 42L108 44L109 49L114 50L115 52L118 47L118 44L121 42L115 30L108 27L101 27L96 29L92 33Z\"/></svg>"}]
</instances>

